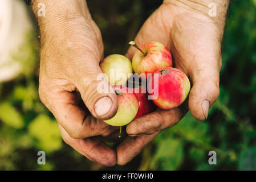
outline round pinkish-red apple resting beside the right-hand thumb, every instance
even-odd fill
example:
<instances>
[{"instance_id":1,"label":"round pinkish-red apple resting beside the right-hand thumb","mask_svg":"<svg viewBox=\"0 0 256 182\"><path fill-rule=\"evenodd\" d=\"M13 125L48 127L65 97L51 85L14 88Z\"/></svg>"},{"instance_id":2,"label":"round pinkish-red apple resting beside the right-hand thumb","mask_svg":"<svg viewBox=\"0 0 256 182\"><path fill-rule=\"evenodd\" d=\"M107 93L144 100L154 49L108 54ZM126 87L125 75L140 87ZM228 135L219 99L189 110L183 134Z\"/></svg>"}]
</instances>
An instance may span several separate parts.
<instances>
[{"instance_id":1,"label":"round pinkish-red apple resting beside the right-hand thumb","mask_svg":"<svg viewBox=\"0 0 256 182\"><path fill-rule=\"evenodd\" d=\"M155 74L159 75L158 84L155 84ZM180 106L185 101L190 90L189 78L185 73L171 67L156 71L149 77L148 86L148 89L152 88L153 90L152 93L149 93L152 101L161 109L172 109Z\"/></svg>"}]
</instances>

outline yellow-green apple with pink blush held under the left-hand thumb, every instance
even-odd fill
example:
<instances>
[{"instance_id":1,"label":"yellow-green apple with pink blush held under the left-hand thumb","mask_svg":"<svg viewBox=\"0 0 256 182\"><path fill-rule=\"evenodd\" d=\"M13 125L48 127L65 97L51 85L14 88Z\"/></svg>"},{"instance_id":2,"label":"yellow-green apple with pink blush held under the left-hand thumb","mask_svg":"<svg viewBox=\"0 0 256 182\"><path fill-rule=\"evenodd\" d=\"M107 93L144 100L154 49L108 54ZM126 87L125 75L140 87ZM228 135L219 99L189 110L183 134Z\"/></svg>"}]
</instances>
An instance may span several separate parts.
<instances>
[{"instance_id":1,"label":"yellow-green apple with pink blush held under the left-hand thumb","mask_svg":"<svg viewBox=\"0 0 256 182\"><path fill-rule=\"evenodd\" d=\"M104 120L104 122L112 126L124 126L135 118L139 104L135 94L123 92L119 88L115 88L115 92L118 100L117 113L111 119Z\"/></svg>"}]
</instances>

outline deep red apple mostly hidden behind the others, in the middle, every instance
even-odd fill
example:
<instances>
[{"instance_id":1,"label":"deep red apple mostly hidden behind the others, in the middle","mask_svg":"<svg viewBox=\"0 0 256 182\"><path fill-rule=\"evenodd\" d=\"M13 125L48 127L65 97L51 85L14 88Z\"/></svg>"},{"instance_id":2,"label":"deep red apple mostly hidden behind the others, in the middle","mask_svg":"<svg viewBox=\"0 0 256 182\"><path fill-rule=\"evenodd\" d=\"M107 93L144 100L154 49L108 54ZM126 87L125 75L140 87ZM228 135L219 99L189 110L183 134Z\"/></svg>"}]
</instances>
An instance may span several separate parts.
<instances>
[{"instance_id":1,"label":"deep red apple mostly hidden behind the others, in the middle","mask_svg":"<svg viewBox=\"0 0 256 182\"><path fill-rule=\"evenodd\" d=\"M134 119L139 118L141 115L146 115L152 113L157 109L157 106L148 99L147 88L143 85L140 85L137 88L127 88L126 86L119 86L120 89L125 90L125 92L135 94L139 109Z\"/></svg>"}]
</instances>

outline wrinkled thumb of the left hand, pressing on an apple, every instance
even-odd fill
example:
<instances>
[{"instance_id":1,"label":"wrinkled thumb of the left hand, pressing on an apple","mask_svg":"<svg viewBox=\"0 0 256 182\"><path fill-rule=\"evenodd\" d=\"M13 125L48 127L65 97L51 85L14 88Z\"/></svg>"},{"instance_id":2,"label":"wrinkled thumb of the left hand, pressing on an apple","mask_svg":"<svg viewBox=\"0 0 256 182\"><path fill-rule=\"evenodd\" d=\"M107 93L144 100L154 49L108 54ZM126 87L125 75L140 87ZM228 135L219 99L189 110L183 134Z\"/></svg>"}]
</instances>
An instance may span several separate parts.
<instances>
[{"instance_id":1,"label":"wrinkled thumb of the left hand, pressing on an apple","mask_svg":"<svg viewBox=\"0 0 256 182\"><path fill-rule=\"evenodd\" d=\"M116 114L117 96L106 79L99 79L100 74L103 73L99 67L99 61L94 61L87 56L87 60L79 63L79 68L73 72L72 80L75 81L75 86L91 114L95 118L109 119ZM103 93L99 90L100 85L104 85Z\"/></svg>"}]
</instances>

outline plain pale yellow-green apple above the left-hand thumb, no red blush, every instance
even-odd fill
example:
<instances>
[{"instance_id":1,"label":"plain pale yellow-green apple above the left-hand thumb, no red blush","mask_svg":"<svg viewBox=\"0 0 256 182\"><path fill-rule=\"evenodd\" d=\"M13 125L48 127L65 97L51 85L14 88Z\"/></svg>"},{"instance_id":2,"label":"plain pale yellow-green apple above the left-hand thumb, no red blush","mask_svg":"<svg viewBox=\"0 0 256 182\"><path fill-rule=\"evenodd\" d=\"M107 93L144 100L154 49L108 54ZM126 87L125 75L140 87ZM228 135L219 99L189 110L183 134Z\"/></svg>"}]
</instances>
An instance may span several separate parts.
<instances>
[{"instance_id":1,"label":"plain pale yellow-green apple above the left-hand thumb, no red blush","mask_svg":"<svg viewBox=\"0 0 256 182\"><path fill-rule=\"evenodd\" d=\"M100 63L101 71L108 76L109 84L124 85L133 73L131 61L123 55L109 55Z\"/></svg>"}]
</instances>

